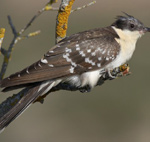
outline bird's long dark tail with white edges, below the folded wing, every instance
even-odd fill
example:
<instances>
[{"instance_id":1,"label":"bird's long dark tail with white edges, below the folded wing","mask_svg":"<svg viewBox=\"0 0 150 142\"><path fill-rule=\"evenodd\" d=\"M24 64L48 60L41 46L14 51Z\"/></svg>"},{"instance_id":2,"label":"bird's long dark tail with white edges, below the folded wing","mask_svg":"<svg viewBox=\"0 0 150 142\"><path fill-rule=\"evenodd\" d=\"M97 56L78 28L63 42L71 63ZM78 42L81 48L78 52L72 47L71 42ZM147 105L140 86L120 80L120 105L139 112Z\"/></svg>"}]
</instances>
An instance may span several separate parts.
<instances>
[{"instance_id":1,"label":"bird's long dark tail with white edges, below the folded wing","mask_svg":"<svg viewBox=\"0 0 150 142\"><path fill-rule=\"evenodd\" d=\"M25 94L20 94L21 97L19 98L18 102L0 117L0 133L14 119L20 116L23 113L23 111L25 111L39 96L47 93L54 86L54 84L55 81L45 82L37 86L26 88L24 90ZM6 101L8 101L8 99ZM6 103L6 101L4 103Z\"/></svg>"}]
</instances>

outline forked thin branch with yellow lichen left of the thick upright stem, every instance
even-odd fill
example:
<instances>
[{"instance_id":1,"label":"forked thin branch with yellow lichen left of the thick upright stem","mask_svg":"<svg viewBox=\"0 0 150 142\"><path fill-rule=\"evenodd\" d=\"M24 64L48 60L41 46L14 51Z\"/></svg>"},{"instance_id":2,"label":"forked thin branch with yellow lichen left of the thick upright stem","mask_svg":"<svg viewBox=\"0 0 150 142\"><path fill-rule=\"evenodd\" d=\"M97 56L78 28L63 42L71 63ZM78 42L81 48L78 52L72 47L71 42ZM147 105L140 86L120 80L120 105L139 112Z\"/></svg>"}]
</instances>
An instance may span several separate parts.
<instances>
[{"instance_id":1,"label":"forked thin branch with yellow lichen left of the thick upright stem","mask_svg":"<svg viewBox=\"0 0 150 142\"><path fill-rule=\"evenodd\" d=\"M3 60L3 64L2 64L2 68L1 68L1 72L0 72L0 80L4 78L4 75L6 73L6 70L7 70L8 64L9 64L9 60L10 60L11 55L12 55L13 48L18 43L18 41L20 41L22 39L27 39L29 37L36 36L40 33L40 31L29 33L26 36L22 36L22 34L32 25L32 23L36 20L36 18L38 18L44 11L50 10L50 7L51 7L51 10L54 10L52 7L52 4L56 3L56 2L57 2L57 0L50 0L41 10L39 10L33 16L33 18L27 23L27 25L24 28L22 28L19 32L17 32L17 30L16 30L16 28L12 22L11 17L8 16L8 22L9 22L9 25L12 29L12 33L14 35L14 38L13 38L8 50L2 49L2 51L1 51L2 54L4 55L4 60Z\"/></svg>"}]
</instances>

